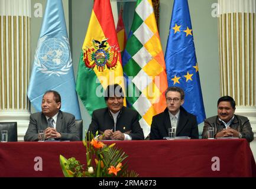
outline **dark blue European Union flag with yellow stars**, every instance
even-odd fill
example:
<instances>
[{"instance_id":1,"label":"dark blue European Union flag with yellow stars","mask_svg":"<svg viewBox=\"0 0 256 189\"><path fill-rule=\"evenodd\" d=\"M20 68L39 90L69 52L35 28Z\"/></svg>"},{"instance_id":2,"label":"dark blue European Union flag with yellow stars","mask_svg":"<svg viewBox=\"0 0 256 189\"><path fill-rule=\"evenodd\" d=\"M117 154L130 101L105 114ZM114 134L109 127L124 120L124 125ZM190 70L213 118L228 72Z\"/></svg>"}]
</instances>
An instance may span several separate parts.
<instances>
[{"instance_id":1,"label":"dark blue European Union flag with yellow stars","mask_svg":"<svg viewBox=\"0 0 256 189\"><path fill-rule=\"evenodd\" d=\"M184 90L183 107L203 122L205 107L187 0L174 0L165 60L168 86Z\"/></svg>"}]
</instances>

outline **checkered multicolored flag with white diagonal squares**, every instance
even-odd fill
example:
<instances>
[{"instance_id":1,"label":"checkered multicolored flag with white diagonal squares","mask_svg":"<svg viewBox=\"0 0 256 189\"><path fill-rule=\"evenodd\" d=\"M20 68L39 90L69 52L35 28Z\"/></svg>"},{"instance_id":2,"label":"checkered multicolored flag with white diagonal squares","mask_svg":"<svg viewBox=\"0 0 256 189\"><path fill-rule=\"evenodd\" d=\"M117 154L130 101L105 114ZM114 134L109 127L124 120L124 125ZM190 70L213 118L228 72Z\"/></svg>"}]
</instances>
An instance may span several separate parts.
<instances>
[{"instance_id":1,"label":"checkered multicolored flag with white diagonal squares","mask_svg":"<svg viewBox=\"0 0 256 189\"><path fill-rule=\"evenodd\" d=\"M167 76L151 0L138 0L122 57L127 104L140 113L144 136L152 117L166 108Z\"/></svg>"}]
</instances>

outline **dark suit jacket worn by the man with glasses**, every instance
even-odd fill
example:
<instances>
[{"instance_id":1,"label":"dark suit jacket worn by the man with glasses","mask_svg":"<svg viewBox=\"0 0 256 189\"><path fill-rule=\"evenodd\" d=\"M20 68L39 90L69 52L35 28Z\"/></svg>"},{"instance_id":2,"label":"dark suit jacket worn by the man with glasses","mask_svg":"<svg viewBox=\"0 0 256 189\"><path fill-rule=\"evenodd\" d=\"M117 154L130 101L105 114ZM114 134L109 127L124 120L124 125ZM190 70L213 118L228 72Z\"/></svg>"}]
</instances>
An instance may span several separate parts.
<instances>
[{"instance_id":1,"label":"dark suit jacket worn by the man with glasses","mask_svg":"<svg viewBox=\"0 0 256 189\"><path fill-rule=\"evenodd\" d=\"M168 128L171 128L171 121L168 108L166 107L164 112L153 116L150 139L157 140L168 136ZM188 113L182 106L180 106L180 116L176 128L176 136L189 136L192 139L199 138L196 116Z\"/></svg>"}]
</instances>

